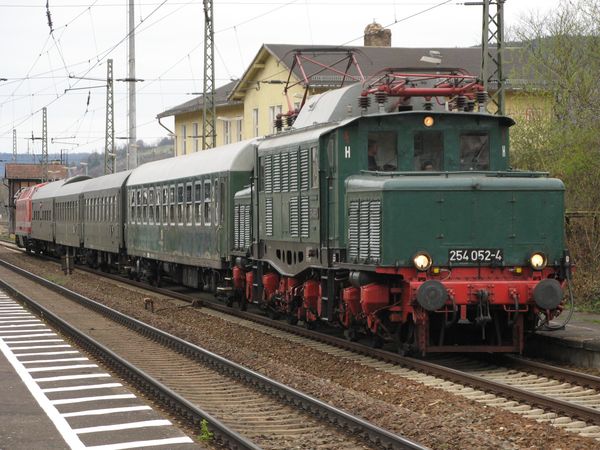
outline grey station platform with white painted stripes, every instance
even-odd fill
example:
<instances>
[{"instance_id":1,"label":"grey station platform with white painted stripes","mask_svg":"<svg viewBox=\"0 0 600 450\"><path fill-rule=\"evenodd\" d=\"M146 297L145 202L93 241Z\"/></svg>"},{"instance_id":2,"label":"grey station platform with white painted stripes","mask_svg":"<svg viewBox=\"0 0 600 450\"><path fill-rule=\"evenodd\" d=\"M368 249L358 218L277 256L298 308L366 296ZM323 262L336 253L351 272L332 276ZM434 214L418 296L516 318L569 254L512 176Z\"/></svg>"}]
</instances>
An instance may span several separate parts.
<instances>
[{"instance_id":1,"label":"grey station platform with white painted stripes","mask_svg":"<svg viewBox=\"0 0 600 450\"><path fill-rule=\"evenodd\" d=\"M0 292L0 449L200 448Z\"/></svg>"}]
</instances>

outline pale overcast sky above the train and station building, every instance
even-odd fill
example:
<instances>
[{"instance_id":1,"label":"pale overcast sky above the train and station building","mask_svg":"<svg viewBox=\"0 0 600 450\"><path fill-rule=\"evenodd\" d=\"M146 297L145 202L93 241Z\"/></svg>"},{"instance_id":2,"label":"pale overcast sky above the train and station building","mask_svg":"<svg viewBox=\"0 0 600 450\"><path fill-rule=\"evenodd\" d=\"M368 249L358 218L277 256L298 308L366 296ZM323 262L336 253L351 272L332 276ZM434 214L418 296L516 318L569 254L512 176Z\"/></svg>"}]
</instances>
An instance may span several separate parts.
<instances>
[{"instance_id":1,"label":"pale overcast sky above the train and station building","mask_svg":"<svg viewBox=\"0 0 600 450\"><path fill-rule=\"evenodd\" d=\"M42 113L48 108L50 153L103 151L106 59L114 78L127 77L128 0L0 0L0 152L40 153ZM240 77L263 43L362 45L373 20L389 26L396 47L461 47L480 43L481 6L417 0L214 0L217 86ZM506 27L532 11L548 13L559 0L507 0ZM202 91L202 0L135 2L137 136L164 137L155 117ZM70 90L67 88L84 88ZM89 93L89 105L87 105ZM126 137L126 83L115 82L115 135ZM173 121L165 120L173 129ZM117 140L117 144L124 141ZM76 145L71 145L76 144ZM72 150L71 150L72 149Z\"/></svg>"}]
</instances>

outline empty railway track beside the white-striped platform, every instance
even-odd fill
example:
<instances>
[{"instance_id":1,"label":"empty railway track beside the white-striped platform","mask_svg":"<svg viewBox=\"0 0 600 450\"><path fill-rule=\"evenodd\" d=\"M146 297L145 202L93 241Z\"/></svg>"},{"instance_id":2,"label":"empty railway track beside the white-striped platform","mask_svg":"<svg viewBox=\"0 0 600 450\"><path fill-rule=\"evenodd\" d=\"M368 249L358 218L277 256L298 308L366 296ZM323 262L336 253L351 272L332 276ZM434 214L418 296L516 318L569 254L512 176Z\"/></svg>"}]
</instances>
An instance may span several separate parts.
<instances>
[{"instance_id":1,"label":"empty railway track beside the white-striped platform","mask_svg":"<svg viewBox=\"0 0 600 450\"><path fill-rule=\"evenodd\" d=\"M206 420L230 448L424 448L6 262L0 280L191 426Z\"/></svg>"}]
</instances>

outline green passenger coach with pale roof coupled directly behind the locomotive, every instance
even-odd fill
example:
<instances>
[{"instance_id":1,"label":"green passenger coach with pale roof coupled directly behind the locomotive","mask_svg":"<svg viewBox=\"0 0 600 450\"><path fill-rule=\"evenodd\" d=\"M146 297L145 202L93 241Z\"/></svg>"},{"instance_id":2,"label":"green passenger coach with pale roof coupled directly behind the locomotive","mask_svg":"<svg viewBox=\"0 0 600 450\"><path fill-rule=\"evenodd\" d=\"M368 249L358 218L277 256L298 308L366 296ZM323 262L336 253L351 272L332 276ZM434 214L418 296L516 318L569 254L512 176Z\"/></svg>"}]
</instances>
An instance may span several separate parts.
<instances>
[{"instance_id":1,"label":"green passenger coach with pale roof coupled directly behind the locomotive","mask_svg":"<svg viewBox=\"0 0 600 450\"><path fill-rule=\"evenodd\" d=\"M214 289L233 245L233 196L250 184L255 148L244 141L133 171L125 228L135 276Z\"/></svg>"}]
</instances>

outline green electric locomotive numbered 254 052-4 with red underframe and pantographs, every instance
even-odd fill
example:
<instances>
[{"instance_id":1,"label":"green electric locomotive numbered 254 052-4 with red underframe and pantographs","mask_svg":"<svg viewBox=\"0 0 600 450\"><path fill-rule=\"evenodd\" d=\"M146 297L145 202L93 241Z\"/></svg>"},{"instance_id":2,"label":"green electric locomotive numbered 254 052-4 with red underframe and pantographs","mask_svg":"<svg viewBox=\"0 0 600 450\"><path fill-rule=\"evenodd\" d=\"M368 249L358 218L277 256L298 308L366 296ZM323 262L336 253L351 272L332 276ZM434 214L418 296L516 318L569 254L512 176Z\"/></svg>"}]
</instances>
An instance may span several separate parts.
<instances>
[{"instance_id":1,"label":"green electric locomotive numbered 254 052-4 with red underframe and pantographs","mask_svg":"<svg viewBox=\"0 0 600 450\"><path fill-rule=\"evenodd\" d=\"M562 308L564 185L511 170L514 122L484 109L462 73L309 101L235 195L235 297L401 351L522 351Z\"/></svg>"}]
</instances>

